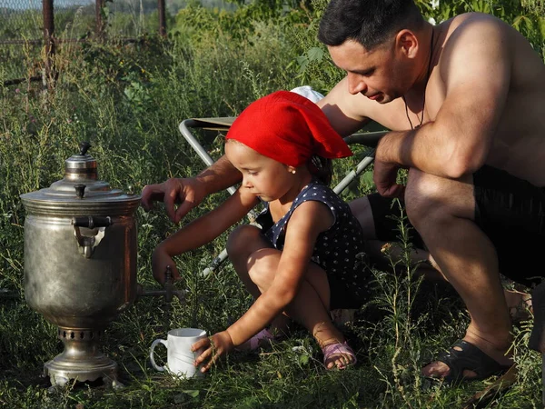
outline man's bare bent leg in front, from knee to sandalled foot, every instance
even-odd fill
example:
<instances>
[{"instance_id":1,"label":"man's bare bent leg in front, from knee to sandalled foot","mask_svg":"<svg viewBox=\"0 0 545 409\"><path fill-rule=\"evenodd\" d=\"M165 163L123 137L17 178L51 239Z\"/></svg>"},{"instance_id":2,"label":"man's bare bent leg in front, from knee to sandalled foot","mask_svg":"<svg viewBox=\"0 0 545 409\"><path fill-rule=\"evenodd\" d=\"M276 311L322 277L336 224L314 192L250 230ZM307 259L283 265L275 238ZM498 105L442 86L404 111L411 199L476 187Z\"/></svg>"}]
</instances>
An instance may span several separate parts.
<instances>
[{"instance_id":1,"label":"man's bare bent leg in front, from knee to sandalled foot","mask_svg":"<svg viewBox=\"0 0 545 409\"><path fill-rule=\"evenodd\" d=\"M405 205L411 224L468 308L471 324L464 340L498 363L510 364L506 353L511 324L498 257L488 236L474 223L471 176L454 181L411 169ZM435 362L422 372L442 377L449 368Z\"/></svg>"}]
</instances>

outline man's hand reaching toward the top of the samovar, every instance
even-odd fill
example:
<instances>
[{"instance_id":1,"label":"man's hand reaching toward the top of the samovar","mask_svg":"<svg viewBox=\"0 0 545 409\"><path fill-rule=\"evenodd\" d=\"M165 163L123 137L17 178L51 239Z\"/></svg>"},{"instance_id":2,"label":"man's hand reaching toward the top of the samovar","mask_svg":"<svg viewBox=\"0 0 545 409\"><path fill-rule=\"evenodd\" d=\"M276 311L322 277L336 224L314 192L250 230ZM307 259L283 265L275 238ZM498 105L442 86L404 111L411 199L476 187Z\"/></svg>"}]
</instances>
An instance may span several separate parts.
<instances>
[{"instance_id":1,"label":"man's hand reaching toward the top of the samovar","mask_svg":"<svg viewBox=\"0 0 545 409\"><path fill-rule=\"evenodd\" d=\"M145 185L141 204L149 212L154 202L164 202L169 219L178 224L185 214L203 201L205 195L203 184L196 178L171 178L162 184ZM178 208L176 204L180 204Z\"/></svg>"}]
</instances>

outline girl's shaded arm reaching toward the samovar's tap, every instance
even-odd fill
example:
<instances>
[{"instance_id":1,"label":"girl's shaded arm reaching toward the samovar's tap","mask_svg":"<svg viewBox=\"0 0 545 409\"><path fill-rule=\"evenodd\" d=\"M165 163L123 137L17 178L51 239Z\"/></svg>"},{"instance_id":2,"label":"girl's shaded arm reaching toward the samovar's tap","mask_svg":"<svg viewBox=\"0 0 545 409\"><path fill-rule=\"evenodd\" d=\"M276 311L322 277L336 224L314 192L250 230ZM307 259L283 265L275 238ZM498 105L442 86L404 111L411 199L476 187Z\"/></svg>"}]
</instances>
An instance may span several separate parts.
<instances>
[{"instance_id":1,"label":"girl's shaded arm reaching toward the samovar's tap","mask_svg":"<svg viewBox=\"0 0 545 409\"><path fill-rule=\"evenodd\" d=\"M233 224L241 220L259 199L254 195L237 190L222 205L186 224L175 234L166 238L154 250L152 264L154 278L161 284L164 282L164 270L171 266L173 278L179 278L172 257L208 244Z\"/></svg>"}]
</instances>

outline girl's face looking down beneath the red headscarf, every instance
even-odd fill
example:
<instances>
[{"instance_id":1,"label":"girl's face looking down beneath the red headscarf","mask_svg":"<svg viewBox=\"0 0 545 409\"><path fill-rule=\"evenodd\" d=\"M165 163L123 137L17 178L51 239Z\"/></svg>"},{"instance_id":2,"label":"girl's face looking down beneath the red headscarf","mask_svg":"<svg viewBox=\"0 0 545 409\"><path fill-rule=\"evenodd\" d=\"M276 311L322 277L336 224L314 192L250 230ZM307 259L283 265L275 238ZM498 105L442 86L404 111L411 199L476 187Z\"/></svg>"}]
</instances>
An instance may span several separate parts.
<instances>
[{"instance_id":1,"label":"girl's face looking down beneath the red headscarf","mask_svg":"<svg viewBox=\"0 0 545 409\"><path fill-rule=\"evenodd\" d=\"M225 155L243 174L243 188L265 202L281 199L292 189L295 177L292 166L255 152L240 142L228 139Z\"/></svg>"}]
</instances>

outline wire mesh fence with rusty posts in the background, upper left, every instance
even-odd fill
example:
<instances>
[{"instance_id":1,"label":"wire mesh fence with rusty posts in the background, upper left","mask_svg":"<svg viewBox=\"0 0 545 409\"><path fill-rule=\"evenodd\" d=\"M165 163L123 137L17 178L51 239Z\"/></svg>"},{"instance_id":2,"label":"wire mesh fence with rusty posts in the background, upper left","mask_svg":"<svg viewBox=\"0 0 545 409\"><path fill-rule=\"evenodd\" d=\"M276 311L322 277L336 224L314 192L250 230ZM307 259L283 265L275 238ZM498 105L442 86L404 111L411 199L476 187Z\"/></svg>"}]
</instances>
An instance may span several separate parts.
<instances>
[{"instance_id":1,"label":"wire mesh fence with rusty posts in the background, upper left","mask_svg":"<svg viewBox=\"0 0 545 409\"><path fill-rule=\"evenodd\" d=\"M55 44L146 33L165 35L164 0L0 0L0 80L33 76L29 62L54 53Z\"/></svg>"}]
</instances>

